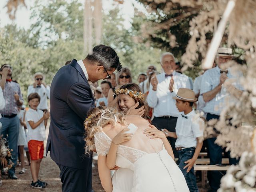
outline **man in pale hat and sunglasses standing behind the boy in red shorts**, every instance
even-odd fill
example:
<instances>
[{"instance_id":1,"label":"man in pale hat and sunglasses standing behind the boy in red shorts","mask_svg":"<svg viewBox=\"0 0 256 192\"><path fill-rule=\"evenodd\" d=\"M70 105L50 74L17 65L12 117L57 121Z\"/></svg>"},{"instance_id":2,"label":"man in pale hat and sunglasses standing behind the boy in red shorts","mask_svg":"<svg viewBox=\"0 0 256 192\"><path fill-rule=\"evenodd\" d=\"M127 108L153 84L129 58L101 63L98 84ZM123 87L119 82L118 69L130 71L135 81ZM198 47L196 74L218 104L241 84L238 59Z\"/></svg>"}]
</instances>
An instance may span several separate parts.
<instances>
[{"instance_id":1,"label":"man in pale hat and sunglasses standing behind the boy in red shorts","mask_svg":"<svg viewBox=\"0 0 256 192\"><path fill-rule=\"evenodd\" d=\"M45 112L48 110L47 98L50 99L50 86L44 83L44 74L40 72L34 74L34 80L34 84L28 86L28 95L31 93L38 93L41 98L38 109Z\"/></svg>"}]
</instances>

